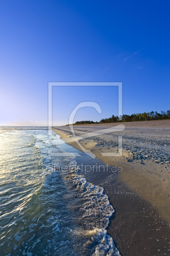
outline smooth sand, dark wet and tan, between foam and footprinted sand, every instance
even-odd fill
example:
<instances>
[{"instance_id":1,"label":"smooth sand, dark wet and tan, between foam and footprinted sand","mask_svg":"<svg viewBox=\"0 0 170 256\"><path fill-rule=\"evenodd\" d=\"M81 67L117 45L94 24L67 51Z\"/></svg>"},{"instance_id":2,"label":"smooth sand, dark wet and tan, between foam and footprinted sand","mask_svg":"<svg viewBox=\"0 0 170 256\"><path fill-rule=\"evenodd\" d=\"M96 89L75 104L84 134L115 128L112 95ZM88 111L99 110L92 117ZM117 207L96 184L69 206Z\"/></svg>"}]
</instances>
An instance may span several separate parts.
<instances>
[{"instance_id":1,"label":"smooth sand, dark wet and tan, between foam and footprinted sand","mask_svg":"<svg viewBox=\"0 0 170 256\"><path fill-rule=\"evenodd\" d=\"M82 128L82 126L80 127ZM88 125L88 127L90 127L90 125ZM77 129L77 126L74 128L76 132L77 130L80 130L79 132L81 133L84 132L82 132L80 128ZM56 127L53 128L53 131L59 134L61 139L68 138L72 134L68 126ZM87 133L87 130L85 133ZM159 165L160 169L160 164L153 163L150 160L147 160L147 165L137 162L127 162L129 155L125 150L123 150L124 157L103 157L99 152L101 144L96 145L96 142L92 139L80 140L80 143L84 148L90 149L104 164L108 163L108 165L117 165L117 167L122 166L123 168L123 171L120 172L120 175L116 179L111 179L109 173L106 175L107 177L105 176L104 178L102 178L103 175L102 177L101 175L94 175L93 172L85 174L85 178L87 178L90 183L104 188L104 193L109 197L110 204L112 204L115 209L115 213L110 218L108 233L116 242L120 253L122 253L122 255L131 256L135 256L137 253L138 255L148 255L148 252L155 256L167 254L167 251L170 249L168 245L170 242L168 236L170 231L170 221L168 220L170 208L169 197L167 197L169 186L166 185L166 183L168 182L167 184L169 184L169 181L168 179L160 180L161 176L156 177L155 167ZM76 142L68 144L81 150ZM152 170L150 168L151 166L154 167ZM156 172L158 172L158 170ZM162 173L161 170L159 173ZM135 179L132 179L133 177L135 177ZM116 191L118 189L120 192L117 193ZM143 210L142 207L145 208L145 210ZM145 211L145 213L143 211ZM149 216L145 216L146 212ZM139 221L139 218L141 221ZM159 221L155 218L159 218ZM122 220L124 221L122 222ZM140 230L138 230L138 228ZM130 246L126 241L126 239L129 239L129 236L131 239ZM158 243L157 240L161 241L161 243ZM144 244L145 251L142 249Z\"/></svg>"}]
</instances>

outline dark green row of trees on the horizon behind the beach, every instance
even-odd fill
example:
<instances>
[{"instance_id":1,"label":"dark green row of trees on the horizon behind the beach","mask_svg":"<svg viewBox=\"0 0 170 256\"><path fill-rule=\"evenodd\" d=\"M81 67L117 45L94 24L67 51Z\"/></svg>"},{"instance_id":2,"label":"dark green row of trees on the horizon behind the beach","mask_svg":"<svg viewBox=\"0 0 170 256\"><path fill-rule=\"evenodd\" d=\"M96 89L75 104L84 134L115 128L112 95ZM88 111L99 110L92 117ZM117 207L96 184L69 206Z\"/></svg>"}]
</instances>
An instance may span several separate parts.
<instances>
[{"instance_id":1,"label":"dark green row of trees on the horizon behind the beach","mask_svg":"<svg viewBox=\"0 0 170 256\"><path fill-rule=\"evenodd\" d=\"M160 111L151 111L151 112L144 112L132 115L123 115L123 116L114 116L109 118L103 118L100 122L93 122L93 121L77 121L75 124L104 124L104 123L117 123L117 122L136 122L136 121L150 121L150 120L166 120L170 119L170 110Z\"/></svg>"}]
</instances>

